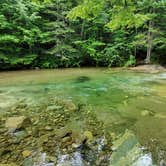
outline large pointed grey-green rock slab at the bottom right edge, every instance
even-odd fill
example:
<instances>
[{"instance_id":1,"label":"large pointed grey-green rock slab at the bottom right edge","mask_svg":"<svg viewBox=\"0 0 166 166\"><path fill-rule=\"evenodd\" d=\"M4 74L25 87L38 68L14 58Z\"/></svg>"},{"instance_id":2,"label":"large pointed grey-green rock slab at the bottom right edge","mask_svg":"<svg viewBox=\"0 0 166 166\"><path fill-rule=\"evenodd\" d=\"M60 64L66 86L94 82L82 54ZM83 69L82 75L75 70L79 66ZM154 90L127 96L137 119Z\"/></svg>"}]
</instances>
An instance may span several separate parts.
<instances>
[{"instance_id":1,"label":"large pointed grey-green rock slab at the bottom right edge","mask_svg":"<svg viewBox=\"0 0 166 166\"><path fill-rule=\"evenodd\" d=\"M144 154L136 136L126 130L123 136L113 142L110 166L152 166L150 154Z\"/></svg>"}]
</instances>

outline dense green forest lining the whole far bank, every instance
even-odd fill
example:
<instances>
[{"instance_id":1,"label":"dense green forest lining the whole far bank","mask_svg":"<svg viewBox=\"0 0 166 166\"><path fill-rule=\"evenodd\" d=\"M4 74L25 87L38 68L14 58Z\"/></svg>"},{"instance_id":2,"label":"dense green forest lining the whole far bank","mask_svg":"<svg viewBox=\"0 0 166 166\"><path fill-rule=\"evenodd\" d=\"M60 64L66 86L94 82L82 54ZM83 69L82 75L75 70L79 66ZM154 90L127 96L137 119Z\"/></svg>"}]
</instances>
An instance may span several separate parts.
<instances>
[{"instance_id":1,"label":"dense green forest lining the whole far bank","mask_svg":"<svg viewBox=\"0 0 166 166\"><path fill-rule=\"evenodd\" d=\"M1 0L0 69L166 62L165 0Z\"/></svg>"}]
</instances>

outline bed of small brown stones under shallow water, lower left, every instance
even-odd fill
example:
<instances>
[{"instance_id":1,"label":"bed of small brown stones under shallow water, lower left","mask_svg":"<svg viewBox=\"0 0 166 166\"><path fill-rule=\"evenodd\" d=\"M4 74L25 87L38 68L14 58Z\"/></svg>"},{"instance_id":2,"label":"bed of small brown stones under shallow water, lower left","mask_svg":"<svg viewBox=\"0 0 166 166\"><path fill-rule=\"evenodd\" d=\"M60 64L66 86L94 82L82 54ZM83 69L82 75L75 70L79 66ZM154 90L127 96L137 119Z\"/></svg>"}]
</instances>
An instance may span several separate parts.
<instances>
[{"instance_id":1,"label":"bed of small brown stones under shallow water, lower left","mask_svg":"<svg viewBox=\"0 0 166 166\"><path fill-rule=\"evenodd\" d=\"M108 165L111 146L102 122L71 101L19 101L0 118L1 165L72 165L80 156L84 165Z\"/></svg>"}]
</instances>

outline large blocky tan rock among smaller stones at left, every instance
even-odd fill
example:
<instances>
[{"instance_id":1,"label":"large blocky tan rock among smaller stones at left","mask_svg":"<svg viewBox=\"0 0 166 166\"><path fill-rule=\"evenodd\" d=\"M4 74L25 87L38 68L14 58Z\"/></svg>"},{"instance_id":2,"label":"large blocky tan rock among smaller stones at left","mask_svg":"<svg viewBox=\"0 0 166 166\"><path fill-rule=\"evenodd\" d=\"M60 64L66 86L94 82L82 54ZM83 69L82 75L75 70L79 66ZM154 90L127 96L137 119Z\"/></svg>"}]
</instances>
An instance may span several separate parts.
<instances>
[{"instance_id":1,"label":"large blocky tan rock among smaller stones at left","mask_svg":"<svg viewBox=\"0 0 166 166\"><path fill-rule=\"evenodd\" d=\"M25 116L10 117L6 120L5 127L8 129L26 128L31 124L31 120Z\"/></svg>"}]
</instances>

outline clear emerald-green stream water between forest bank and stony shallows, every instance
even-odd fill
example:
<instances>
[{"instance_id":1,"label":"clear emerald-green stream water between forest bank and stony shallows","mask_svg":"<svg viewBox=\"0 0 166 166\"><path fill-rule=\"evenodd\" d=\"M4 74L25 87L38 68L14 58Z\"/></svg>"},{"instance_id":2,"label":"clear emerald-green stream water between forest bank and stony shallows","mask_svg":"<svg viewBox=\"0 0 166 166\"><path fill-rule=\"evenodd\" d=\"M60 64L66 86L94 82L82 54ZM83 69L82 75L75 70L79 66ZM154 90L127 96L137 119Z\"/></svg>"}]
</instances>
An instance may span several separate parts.
<instances>
[{"instance_id":1,"label":"clear emerald-green stream water between forest bank and stony shallows","mask_svg":"<svg viewBox=\"0 0 166 166\"><path fill-rule=\"evenodd\" d=\"M49 96L91 105L110 132L133 130L156 161L160 151L166 154L166 73L100 68L0 73L1 113L20 98L32 103Z\"/></svg>"}]
</instances>

